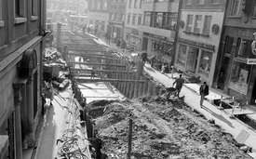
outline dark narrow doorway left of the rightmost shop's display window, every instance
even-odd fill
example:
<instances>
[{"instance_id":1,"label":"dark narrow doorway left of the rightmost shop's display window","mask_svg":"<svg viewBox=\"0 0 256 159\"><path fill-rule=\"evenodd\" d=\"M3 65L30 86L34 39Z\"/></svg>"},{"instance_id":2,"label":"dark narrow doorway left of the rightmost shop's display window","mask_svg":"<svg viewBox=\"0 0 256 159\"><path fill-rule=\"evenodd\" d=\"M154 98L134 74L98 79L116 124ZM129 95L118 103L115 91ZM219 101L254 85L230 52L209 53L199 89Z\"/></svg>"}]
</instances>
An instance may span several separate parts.
<instances>
[{"instance_id":1,"label":"dark narrow doorway left of the rightmost shop's display window","mask_svg":"<svg viewBox=\"0 0 256 159\"><path fill-rule=\"evenodd\" d=\"M221 90L224 90L226 74L228 72L229 60L230 59L227 58L227 57L224 57L224 59L222 60L222 65L221 65L221 68L220 68L218 84L217 84L217 88L221 89Z\"/></svg>"}]
</instances>

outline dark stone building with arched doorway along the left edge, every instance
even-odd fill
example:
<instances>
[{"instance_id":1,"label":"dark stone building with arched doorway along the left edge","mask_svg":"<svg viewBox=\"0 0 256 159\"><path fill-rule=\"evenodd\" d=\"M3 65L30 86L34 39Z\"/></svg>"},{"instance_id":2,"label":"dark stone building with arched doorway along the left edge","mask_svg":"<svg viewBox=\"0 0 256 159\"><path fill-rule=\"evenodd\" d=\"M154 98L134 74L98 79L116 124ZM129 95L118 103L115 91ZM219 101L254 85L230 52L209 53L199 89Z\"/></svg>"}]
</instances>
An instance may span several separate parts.
<instances>
[{"instance_id":1,"label":"dark stone building with arched doorway along the left edge","mask_svg":"<svg viewBox=\"0 0 256 159\"><path fill-rule=\"evenodd\" d=\"M0 8L0 136L9 142L0 158L22 159L34 150L44 109L46 1L0 1Z\"/></svg>"}]
</instances>

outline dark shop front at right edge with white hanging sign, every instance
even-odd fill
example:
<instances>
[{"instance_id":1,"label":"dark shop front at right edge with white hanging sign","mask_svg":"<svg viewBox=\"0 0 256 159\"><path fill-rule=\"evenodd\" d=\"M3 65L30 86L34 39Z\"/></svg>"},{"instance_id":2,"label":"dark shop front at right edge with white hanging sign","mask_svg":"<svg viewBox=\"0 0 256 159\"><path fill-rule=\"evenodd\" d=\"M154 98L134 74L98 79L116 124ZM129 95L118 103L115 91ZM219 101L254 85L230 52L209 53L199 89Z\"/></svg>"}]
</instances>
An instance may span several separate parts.
<instances>
[{"instance_id":1,"label":"dark shop front at right edge with white hanging sign","mask_svg":"<svg viewBox=\"0 0 256 159\"><path fill-rule=\"evenodd\" d=\"M256 55L251 50L253 33L256 30L224 29L223 54L216 83L224 93L255 105Z\"/></svg>"}]
</instances>

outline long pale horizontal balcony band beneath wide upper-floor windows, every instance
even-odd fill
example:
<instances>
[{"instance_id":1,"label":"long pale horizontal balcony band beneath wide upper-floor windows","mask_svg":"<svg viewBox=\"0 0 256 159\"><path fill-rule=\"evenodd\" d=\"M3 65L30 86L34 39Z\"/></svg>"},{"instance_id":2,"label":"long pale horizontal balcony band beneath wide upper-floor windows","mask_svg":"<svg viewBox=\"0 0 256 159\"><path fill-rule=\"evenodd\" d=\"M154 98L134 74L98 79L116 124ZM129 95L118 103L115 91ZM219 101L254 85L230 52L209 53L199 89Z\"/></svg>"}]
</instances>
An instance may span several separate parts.
<instances>
[{"instance_id":1,"label":"long pale horizontal balcony band beneath wide upper-floor windows","mask_svg":"<svg viewBox=\"0 0 256 159\"><path fill-rule=\"evenodd\" d=\"M176 33L176 31L171 31L171 30L166 30L161 28L153 28L153 27L144 26L144 25L140 25L139 30L145 33L153 33L155 35L168 37L173 40L175 39L175 33Z\"/></svg>"}]
</instances>

